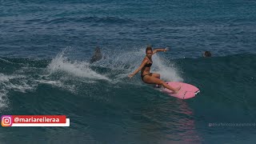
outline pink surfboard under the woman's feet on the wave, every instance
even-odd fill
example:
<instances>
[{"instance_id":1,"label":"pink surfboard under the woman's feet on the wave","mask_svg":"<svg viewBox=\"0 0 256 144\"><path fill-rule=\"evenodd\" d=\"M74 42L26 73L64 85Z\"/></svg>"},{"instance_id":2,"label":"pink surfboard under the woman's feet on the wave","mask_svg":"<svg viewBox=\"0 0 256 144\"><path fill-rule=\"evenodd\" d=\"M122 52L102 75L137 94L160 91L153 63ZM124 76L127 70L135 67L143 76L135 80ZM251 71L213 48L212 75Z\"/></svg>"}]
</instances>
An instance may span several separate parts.
<instances>
[{"instance_id":1,"label":"pink surfboard under the woman's feet on the wave","mask_svg":"<svg viewBox=\"0 0 256 144\"><path fill-rule=\"evenodd\" d=\"M178 86L182 86L177 94L174 94L172 90L163 88L162 91L169 94L170 96L180 98L180 99L188 99L193 98L196 94L200 92L200 90L193 85L183 82L166 82L169 86L177 88Z\"/></svg>"}]
</instances>

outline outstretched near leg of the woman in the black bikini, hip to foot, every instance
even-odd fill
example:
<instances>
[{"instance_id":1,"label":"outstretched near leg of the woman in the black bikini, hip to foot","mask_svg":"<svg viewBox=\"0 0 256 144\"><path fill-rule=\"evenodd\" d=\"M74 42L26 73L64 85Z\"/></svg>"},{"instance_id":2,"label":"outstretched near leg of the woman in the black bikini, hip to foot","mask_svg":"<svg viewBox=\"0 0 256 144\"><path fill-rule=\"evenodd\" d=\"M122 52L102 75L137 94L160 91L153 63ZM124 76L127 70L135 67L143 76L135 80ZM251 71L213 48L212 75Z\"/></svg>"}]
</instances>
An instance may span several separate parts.
<instances>
[{"instance_id":1,"label":"outstretched near leg of the woman in the black bikini, hip to foot","mask_svg":"<svg viewBox=\"0 0 256 144\"><path fill-rule=\"evenodd\" d=\"M173 87L171 87L168 84L166 84L166 82L163 82L161 79L155 78L155 77L149 76L149 75L146 75L143 78L143 82L146 82L146 83L149 83L149 84L162 85L162 86L166 87L167 89L174 91L174 93L178 93L178 90L181 89L181 86L179 86L178 88L174 89Z\"/></svg>"}]
</instances>

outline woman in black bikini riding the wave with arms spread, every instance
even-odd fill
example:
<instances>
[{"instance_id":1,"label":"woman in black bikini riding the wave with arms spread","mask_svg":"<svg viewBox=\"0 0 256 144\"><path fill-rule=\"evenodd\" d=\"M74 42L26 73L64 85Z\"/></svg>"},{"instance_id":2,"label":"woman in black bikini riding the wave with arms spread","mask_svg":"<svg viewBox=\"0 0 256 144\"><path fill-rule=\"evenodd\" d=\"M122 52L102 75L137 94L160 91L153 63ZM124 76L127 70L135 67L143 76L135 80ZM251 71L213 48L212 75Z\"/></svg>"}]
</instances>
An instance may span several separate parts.
<instances>
[{"instance_id":1,"label":"woman in black bikini riding the wave with arms spread","mask_svg":"<svg viewBox=\"0 0 256 144\"><path fill-rule=\"evenodd\" d=\"M164 86L167 89L174 91L174 94L178 93L178 90L181 89L181 86L179 86L178 88L175 89L174 87L167 85L166 82L162 81L160 79L160 74L150 73L150 67L153 64L152 55L156 54L158 51L166 52L167 50L168 50L167 48L152 50L151 46L147 46L146 47L146 57L143 59L141 66L139 66L138 69L135 70L133 74L128 75L128 77L129 78L134 77L134 75L137 74L138 71L141 70L141 77L142 77L143 82L148 83L148 84L157 84L160 86Z\"/></svg>"}]
</instances>

